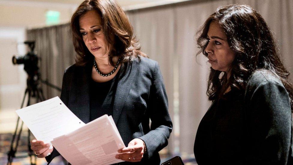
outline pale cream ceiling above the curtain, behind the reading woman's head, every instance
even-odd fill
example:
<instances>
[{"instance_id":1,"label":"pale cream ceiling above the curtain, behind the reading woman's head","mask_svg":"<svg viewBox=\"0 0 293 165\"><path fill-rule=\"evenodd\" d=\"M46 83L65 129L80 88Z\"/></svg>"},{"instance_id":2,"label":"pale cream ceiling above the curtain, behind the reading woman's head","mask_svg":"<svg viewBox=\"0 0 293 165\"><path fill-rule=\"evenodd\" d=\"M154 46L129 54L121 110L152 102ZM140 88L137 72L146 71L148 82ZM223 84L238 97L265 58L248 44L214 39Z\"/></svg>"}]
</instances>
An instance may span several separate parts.
<instances>
[{"instance_id":1,"label":"pale cream ceiling above the curtain, behind the reading woman's head","mask_svg":"<svg viewBox=\"0 0 293 165\"><path fill-rule=\"evenodd\" d=\"M145 8L186 0L116 0L124 10ZM0 0L0 27L43 27L45 13L60 12L60 23L68 23L83 0Z\"/></svg>"}]
</instances>

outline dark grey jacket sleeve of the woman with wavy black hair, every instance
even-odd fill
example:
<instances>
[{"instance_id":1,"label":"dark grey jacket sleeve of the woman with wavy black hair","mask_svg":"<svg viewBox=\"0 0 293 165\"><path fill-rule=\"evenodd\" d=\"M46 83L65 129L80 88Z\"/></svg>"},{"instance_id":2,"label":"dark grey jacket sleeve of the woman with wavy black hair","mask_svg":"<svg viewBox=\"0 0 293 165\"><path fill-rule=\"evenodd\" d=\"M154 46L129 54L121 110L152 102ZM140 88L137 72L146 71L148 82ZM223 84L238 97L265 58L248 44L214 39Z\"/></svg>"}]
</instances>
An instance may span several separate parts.
<instances>
[{"instance_id":1,"label":"dark grey jacket sleeve of the woman with wavy black hair","mask_svg":"<svg viewBox=\"0 0 293 165\"><path fill-rule=\"evenodd\" d=\"M287 164L291 145L288 93L275 81L264 81L251 91L247 108L246 164Z\"/></svg>"}]
</instances>

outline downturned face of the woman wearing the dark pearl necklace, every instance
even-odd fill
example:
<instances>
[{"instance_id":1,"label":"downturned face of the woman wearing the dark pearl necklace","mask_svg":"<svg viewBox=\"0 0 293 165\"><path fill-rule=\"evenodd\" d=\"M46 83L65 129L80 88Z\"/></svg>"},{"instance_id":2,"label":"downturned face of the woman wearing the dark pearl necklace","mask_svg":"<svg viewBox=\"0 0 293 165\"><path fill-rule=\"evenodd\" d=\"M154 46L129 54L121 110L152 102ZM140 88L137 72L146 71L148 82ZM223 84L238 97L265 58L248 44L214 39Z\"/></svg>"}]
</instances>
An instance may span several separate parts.
<instances>
[{"instance_id":1,"label":"downturned face of the woman wearing the dark pearl necklace","mask_svg":"<svg viewBox=\"0 0 293 165\"><path fill-rule=\"evenodd\" d=\"M112 44L103 33L100 14L95 10L86 12L80 17L79 26L83 41L95 58L108 57ZM111 38L114 38L114 35Z\"/></svg>"}]
</instances>

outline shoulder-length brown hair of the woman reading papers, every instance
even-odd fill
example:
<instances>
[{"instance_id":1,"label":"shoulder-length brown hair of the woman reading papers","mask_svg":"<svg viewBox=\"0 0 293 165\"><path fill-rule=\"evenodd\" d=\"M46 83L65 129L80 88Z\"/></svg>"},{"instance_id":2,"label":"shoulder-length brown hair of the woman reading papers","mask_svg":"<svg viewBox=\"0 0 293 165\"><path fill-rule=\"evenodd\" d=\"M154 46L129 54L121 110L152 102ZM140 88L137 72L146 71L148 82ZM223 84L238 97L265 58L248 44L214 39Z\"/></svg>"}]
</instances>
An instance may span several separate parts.
<instances>
[{"instance_id":1,"label":"shoulder-length brown hair of the woman reading papers","mask_svg":"<svg viewBox=\"0 0 293 165\"><path fill-rule=\"evenodd\" d=\"M115 0L85 0L76 9L71 17L71 30L74 49L77 53L76 65L84 66L93 59L93 55L83 42L80 33L79 18L86 12L95 10L101 16L101 24L107 41L111 41L110 34L115 34L113 48L109 54L110 64L113 65L113 56L122 58L126 62L138 57L147 57L140 51L138 41L133 37L132 26L122 8Z\"/></svg>"}]
</instances>

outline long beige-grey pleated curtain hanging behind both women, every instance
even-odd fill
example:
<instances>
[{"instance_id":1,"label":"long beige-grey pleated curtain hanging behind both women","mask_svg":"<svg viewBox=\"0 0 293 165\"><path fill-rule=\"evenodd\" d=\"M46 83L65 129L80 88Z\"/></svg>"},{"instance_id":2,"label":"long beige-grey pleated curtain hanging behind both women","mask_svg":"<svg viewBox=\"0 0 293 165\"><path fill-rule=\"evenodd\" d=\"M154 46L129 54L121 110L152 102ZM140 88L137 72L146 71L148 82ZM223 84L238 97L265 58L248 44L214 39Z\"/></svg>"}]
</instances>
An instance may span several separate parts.
<instances>
[{"instance_id":1,"label":"long beige-grey pleated curtain hanging behind both women","mask_svg":"<svg viewBox=\"0 0 293 165\"><path fill-rule=\"evenodd\" d=\"M174 123L168 145L171 154L193 155L198 124L210 106L206 96L209 65L202 55L195 58L195 32L216 8L231 3L244 3L260 12L276 35L285 66L293 72L292 0L194 0L127 11L142 50L161 67ZM42 79L61 87L64 69L74 63L68 24L27 33L37 41ZM47 99L59 95L43 87Z\"/></svg>"}]
</instances>

